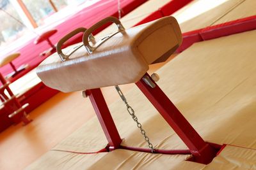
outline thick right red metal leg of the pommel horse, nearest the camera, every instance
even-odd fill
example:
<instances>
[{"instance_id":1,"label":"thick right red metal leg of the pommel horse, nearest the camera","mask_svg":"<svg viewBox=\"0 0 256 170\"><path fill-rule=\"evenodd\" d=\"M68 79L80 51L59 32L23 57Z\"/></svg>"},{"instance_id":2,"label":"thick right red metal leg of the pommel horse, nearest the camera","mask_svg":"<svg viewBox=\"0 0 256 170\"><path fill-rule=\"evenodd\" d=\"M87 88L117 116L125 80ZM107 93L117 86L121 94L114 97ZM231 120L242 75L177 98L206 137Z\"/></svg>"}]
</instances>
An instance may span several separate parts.
<instances>
[{"instance_id":1,"label":"thick right red metal leg of the pommel horse, nearest the camera","mask_svg":"<svg viewBox=\"0 0 256 170\"><path fill-rule=\"evenodd\" d=\"M145 76L150 78L147 73ZM155 83L151 78L150 80ZM216 156L216 151L208 143L205 143L157 84L155 83L156 87L152 88L141 79L136 85L188 146L195 162L209 164Z\"/></svg>"}]
</instances>

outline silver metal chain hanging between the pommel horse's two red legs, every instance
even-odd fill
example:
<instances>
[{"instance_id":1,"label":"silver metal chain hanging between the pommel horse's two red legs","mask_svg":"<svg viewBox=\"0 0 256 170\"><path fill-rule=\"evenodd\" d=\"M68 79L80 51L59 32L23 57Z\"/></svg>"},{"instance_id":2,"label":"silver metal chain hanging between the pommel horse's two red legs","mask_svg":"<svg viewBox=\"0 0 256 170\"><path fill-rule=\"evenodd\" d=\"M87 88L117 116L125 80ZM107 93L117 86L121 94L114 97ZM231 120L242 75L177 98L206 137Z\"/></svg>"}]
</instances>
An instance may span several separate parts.
<instances>
[{"instance_id":1,"label":"silver metal chain hanging between the pommel horse's two red legs","mask_svg":"<svg viewBox=\"0 0 256 170\"><path fill-rule=\"evenodd\" d=\"M132 119L134 120L134 122L136 122L137 127L140 129L141 134L143 135L145 141L148 143L148 148L150 148L151 152L154 153L154 146L152 145L152 143L150 143L149 138L145 132L145 130L142 128L142 125L140 124L140 122L138 122L138 118L136 117L134 110L132 109L132 107L127 103L127 100L123 94L123 92L121 91L121 89L118 87L118 85L115 86L116 91L118 92L119 96L121 97L122 101L124 101L126 107L127 107L127 111L129 112L129 114L131 115Z\"/></svg>"}]
</instances>

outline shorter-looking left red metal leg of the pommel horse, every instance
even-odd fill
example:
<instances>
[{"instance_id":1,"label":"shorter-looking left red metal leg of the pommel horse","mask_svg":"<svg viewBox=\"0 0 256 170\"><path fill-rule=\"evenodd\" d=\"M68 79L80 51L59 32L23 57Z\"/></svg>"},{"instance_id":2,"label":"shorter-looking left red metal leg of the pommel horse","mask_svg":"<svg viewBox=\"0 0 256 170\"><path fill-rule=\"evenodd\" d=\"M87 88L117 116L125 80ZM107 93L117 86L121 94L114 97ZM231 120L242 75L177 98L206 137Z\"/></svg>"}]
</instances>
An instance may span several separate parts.
<instances>
[{"instance_id":1,"label":"shorter-looking left red metal leg of the pommel horse","mask_svg":"<svg viewBox=\"0 0 256 170\"><path fill-rule=\"evenodd\" d=\"M109 112L106 101L100 89L86 90L86 95L89 96L93 108L99 118L100 125L108 139L109 150L115 150L120 147L122 139L118 134L115 123Z\"/></svg>"}]
</instances>

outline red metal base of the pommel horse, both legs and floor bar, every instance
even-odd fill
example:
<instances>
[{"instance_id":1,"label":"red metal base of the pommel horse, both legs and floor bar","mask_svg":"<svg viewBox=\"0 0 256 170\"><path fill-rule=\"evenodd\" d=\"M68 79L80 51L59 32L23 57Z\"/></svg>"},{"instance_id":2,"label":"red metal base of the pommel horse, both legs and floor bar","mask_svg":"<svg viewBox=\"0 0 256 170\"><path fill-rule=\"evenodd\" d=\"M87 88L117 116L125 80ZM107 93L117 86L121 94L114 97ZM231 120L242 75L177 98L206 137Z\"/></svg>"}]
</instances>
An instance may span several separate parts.
<instances>
[{"instance_id":1,"label":"red metal base of the pommel horse, both legs and floor bar","mask_svg":"<svg viewBox=\"0 0 256 170\"><path fill-rule=\"evenodd\" d=\"M145 76L148 76L146 73ZM148 76L150 78L150 76ZM163 116L166 122L172 127L180 139L188 146L189 150L155 150L155 153L163 154L191 154L193 157L189 160L193 160L202 164L209 164L216 156L220 146L210 143L206 143L204 139L195 131L195 129L189 124L186 118L180 113L180 111L174 106L172 101L164 94L164 92L158 87L156 82L150 78L150 80L156 85L152 88L148 86L143 79L136 83L141 92L148 98L148 100L155 106L159 113ZM93 108L96 112L99 122L102 126L104 134L109 142L108 150L115 150L118 148L135 150L140 152L151 152L147 148L136 148L132 146L120 145L122 139L118 134L115 123L109 112L106 101L102 95L100 89L86 90L86 96L90 97Z\"/></svg>"}]
</instances>

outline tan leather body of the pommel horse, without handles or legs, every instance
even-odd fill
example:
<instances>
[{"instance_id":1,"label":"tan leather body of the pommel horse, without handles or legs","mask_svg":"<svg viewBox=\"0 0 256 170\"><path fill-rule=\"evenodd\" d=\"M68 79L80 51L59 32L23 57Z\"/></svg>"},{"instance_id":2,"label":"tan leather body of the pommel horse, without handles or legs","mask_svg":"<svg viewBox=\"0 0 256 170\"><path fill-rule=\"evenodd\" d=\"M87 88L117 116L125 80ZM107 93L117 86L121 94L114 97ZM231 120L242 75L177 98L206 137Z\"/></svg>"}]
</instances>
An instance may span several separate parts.
<instances>
[{"instance_id":1,"label":"tan leather body of the pommel horse, without handles or legs","mask_svg":"<svg viewBox=\"0 0 256 170\"><path fill-rule=\"evenodd\" d=\"M84 46L65 62L54 53L37 67L36 73L45 85L62 92L134 83L148 71L149 64L168 59L181 43L177 20L164 17L116 32L90 55ZM74 51L68 47L63 52L70 50Z\"/></svg>"}]
</instances>

